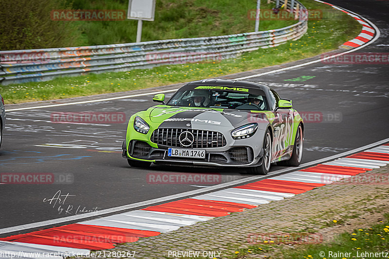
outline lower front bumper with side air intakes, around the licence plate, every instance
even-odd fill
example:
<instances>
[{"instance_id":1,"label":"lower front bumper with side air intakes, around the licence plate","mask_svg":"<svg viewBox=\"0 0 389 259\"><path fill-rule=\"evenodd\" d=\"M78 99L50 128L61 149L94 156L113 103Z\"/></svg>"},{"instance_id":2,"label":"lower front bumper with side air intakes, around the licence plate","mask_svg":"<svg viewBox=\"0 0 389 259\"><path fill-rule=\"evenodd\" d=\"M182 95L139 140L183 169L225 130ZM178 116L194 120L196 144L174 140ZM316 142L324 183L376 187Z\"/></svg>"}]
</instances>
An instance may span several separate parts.
<instances>
[{"instance_id":1,"label":"lower front bumper with side air intakes, around the licence plate","mask_svg":"<svg viewBox=\"0 0 389 259\"><path fill-rule=\"evenodd\" d=\"M122 156L127 159L150 161L158 164L180 164L211 167L250 167L262 164L264 150L254 156L254 150L249 146L226 146L225 150L220 148L203 148L206 150L205 158L180 158L167 155L168 147L155 148L141 140L131 140L128 148L123 142Z\"/></svg>"}]
</instances>

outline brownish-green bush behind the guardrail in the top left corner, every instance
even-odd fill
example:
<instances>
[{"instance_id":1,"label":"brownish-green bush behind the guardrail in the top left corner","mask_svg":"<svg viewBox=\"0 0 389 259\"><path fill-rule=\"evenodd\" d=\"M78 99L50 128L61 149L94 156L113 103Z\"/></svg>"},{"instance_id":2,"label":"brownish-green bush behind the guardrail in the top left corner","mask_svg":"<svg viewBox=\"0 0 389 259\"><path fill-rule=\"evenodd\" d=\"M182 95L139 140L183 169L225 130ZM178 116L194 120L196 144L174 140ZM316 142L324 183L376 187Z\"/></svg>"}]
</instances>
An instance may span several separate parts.
<instances>
[{"instance_id":1,"label":"brownish-green bush behind the guardrail in the top left corner","mask_svg":"<svg viewBox=\"0 0 389 259\"><path fill-rule=\"evenodd\" d=\"M63 0L1 0L0 50L23 50L71 46L77 25L53 21L51 11L71 9Z\"/></svg>"}]
</instances>

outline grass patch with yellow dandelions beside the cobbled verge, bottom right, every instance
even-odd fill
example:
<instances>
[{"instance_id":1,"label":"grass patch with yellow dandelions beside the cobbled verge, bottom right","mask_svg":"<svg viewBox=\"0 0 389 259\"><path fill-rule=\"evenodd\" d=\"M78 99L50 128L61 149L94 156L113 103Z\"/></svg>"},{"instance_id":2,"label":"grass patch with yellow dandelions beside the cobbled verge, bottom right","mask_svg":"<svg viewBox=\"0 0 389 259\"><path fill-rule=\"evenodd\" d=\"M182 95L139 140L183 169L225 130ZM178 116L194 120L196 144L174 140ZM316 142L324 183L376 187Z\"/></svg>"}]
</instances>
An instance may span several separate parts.
<instances>
[{"instance_id":1,"label":"grass patch with yellow dandelions beside the cobbled verge, bottom right","mask_svg":"<svg viewBox=\"0 0 389 259\"><path fill-rule=\"evenodd\" d=\"M289 235L293 236L293 233ZM379 224L375 224L369 228L355 229L350 233L342 233L331 242L318 244L294 243L292 245L293 248L285 248L285 244L261 242L250 245L248 248L234 250L230 257L227 258L257 258L251 257L251 255L267 255L267 259L387 258L383 257L382 254L378 257L362 257L361 254L389 253L389 214L386 214L385 220L380 221ZM272 255L268 256L269 253Z\"/></svg>"}]
</instances>

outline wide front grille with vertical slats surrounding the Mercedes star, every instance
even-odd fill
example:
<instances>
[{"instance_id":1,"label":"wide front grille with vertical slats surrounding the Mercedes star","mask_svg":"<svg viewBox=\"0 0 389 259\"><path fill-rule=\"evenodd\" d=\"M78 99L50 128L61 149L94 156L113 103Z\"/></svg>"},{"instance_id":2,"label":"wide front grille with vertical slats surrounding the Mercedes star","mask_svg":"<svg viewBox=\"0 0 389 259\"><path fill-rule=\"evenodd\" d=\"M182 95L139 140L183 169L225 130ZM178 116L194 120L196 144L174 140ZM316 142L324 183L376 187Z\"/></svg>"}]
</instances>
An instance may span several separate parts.
<instances>
[{"instance_id":1,"label":"wide front grille with vertical slats surrounding the Mercedes star","mask_svg":"<svg viewBox=\"0 0 389 259\"><path fill-rule=\"evenodd\" d=\"M156 129L151 135L151 142L170 147L183 147L178 140L181 132L189 131L195 137L190 148L216 148L227 145L223 134L216 131L194 129Z\"/></svg>"}]
</instances>

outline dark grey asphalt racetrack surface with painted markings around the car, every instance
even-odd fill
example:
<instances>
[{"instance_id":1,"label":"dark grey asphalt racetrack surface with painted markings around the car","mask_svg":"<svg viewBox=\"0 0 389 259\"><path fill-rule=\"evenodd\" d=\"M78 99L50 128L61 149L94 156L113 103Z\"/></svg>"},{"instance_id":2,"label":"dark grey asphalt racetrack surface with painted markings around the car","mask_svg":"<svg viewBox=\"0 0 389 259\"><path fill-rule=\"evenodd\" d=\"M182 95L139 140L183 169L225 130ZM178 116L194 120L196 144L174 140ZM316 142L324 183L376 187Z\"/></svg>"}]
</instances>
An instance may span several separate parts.
<instances>
[{"instance_id":1,"label":"dark grey asphalt racetrack surface with painted markings around the car","mask_svg":"<svg viewBox=\"0 0 389 259\"><path fill-rule=\"evenodd\" d=\"M389 1L330 2L370 19L380 29L381 37L358 52L389 52ZM281 97L292 99L300 112L324 114L321 122L305 123L303 163L388 137L388 65L316 63L249 81L271 86ZM56 177L61 174L70 178L64 184L0 185L0 228L74 215L79 206L101 210L202 188L190 184L151 184L147 180L149 173L220 173L221 182L251 176L240 168L130 168L121 156L126 123L50 122L53 112L87 111L124 112L128 120L131 114L154 105L152 96L8 112L0 172L56 173ZM273 171L277 169L280 167L272 167ZM58 204L43 202L58 190L73 195L66 200L66 208L73 206L71 213L58 211Z\"/></svg>"}]
</instances>

